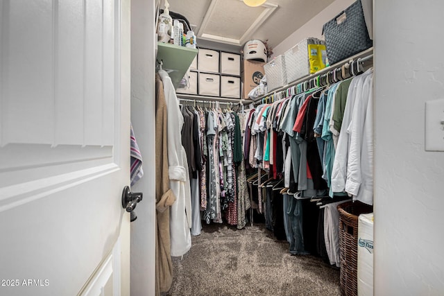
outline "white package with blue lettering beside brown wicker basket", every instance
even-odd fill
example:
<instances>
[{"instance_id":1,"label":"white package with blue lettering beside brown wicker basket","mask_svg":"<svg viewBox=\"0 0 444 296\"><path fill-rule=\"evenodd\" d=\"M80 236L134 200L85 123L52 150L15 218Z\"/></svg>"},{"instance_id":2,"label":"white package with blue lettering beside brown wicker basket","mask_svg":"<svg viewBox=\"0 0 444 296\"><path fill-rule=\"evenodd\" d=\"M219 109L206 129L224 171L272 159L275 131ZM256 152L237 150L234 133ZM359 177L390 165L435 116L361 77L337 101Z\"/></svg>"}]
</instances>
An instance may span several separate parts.
<instances>
[{"instance_id":1,"label":"white package with blue lettering beside brown wicker basket","mask_svg":"<svg viewBox=\"0 0 444 296\"><path fill-rule=\"evenodd\" d=\"M358 295L373 296L373 213L358 218Z\"/></svg>"}]
</instances>

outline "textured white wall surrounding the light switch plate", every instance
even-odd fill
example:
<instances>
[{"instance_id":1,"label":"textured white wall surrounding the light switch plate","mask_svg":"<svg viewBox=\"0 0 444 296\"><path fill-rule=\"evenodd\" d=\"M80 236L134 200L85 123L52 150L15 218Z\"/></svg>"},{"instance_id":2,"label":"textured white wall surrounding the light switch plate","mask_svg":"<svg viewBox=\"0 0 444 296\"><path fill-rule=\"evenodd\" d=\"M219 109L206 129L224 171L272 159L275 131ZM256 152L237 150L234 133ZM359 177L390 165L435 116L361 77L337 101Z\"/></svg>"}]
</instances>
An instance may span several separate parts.
<instances>
[{"instance_id":1,"label":"textured white wall surrounding the light switch plate","mask_svg":"<svg viewBox=\"0 0 444 296\"><path fill-rule=\"evenodd\" d=\"M424 144L425 102L444 98L443 10L375 0L375 295L444 295L444 153Z\"/></svg>"}]
</instances>

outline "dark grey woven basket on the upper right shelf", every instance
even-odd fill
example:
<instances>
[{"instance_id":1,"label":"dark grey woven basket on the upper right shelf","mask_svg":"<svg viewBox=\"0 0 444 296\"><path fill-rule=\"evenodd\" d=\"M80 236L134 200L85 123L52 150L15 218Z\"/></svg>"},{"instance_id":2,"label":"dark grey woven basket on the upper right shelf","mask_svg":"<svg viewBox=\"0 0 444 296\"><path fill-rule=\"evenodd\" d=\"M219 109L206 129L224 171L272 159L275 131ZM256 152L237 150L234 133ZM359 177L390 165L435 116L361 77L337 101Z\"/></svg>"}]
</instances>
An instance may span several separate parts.
<instances>
[{"instance_id":1,"label":"dark grey woven basket on the upper right shelf","mask_svg":"<svg viewBox=\"0 0 444 296\"><path fill-rule=\"evenodd\" d=\"M325 23L323 34L330 65L373 46L373 41L368 36L361 0Z\"/></svg>"}]
</instances>

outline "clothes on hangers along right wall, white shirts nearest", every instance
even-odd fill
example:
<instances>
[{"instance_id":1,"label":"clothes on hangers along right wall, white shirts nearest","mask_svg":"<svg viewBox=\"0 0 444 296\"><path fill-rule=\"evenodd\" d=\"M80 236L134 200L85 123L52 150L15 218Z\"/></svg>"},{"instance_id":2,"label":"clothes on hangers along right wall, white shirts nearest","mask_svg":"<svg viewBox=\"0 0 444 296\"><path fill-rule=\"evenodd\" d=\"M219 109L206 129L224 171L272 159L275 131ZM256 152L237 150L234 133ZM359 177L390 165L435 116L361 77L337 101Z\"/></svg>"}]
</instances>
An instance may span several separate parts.
<instances>
[{"instance_id":1,"label":"clothes on hangers along right wall, white shirts nearest","mask_svg":"<svg viewBox=\"0 0 444 296\"><path fill-rule=\"evenodd\" d=\"M273 216L273 207L282 204L291 254L327 254L339 265L339 238L332 231L339 224L337 204L349 196L373 203L373 69L363 73L361 66L350 62L350 75L332 70L326 85L319 76L305 92L294 85L264 98L246 121L244 159L259 169L259 178L265 170L269 182L284 183L281 195L259 189L258 211L274 230L281 215ZM336 203L324 202L320 210L311 202L319 199Z\"/></svg>"}]
</instances>

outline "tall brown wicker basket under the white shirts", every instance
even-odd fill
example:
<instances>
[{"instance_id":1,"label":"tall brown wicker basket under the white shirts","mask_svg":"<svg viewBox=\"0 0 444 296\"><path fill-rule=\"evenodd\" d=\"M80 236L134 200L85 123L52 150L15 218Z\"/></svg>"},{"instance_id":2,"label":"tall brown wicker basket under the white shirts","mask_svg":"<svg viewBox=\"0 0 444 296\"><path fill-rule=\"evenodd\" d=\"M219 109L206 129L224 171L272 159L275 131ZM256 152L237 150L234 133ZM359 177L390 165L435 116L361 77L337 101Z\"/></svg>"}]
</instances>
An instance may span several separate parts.
<instances>
[{"instance_id":1,"label":"tall brown wicker basket under the white shirts","mask_svg":"<svg viewBox=\"0 0 444 296\"><path fill-rule=\"evenodd\" d=\"M358 218L373 212L373 207L362 202L344 202L338 205L339 243L341 245L341 295L358 294Z\"/></svg>"}]
</instances>

